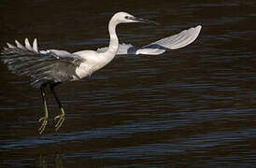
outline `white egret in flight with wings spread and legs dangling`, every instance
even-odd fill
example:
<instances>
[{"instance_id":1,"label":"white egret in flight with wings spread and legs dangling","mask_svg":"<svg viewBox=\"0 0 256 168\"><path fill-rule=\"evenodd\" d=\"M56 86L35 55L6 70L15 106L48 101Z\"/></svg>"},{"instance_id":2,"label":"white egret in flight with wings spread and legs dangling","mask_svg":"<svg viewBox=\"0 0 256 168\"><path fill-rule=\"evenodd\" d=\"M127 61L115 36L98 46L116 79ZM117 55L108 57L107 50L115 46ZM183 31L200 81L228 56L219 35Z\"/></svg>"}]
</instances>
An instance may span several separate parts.
<instances>
[{"instance_id":1,"label":"white egret in flight with wings spread and legs dangling","mask_svg":"<svg viewBox=\"0 0 256 168\"><path fill-rule=\"evenodd\" d=\"M45 116L39 119L42 121L38 132L44 132L48 123L48 105L46 102L47 86L50 86L50 91L54 96L57 104L60 107L61 115L56 116L58 119L55 127L56 131L64 122L64 107L59 101L55 86L67 81L79 80L83 77L90 76L93 72L101 69L107 63L111 62L117 54L147 54L157 55L168 49L179 49L191 44L199 35L201 26L184 30L178 35L172 35L153 42L145 47L137 48L132 45L119 44L119 39L116 34L116 27L120 23L130 22L148 22L148 21L128 14L126 12L116 13L108 23L108 31L110 35L109 46L107 48L94 50L81 50L70 53L65 50L48 49L38 50L37 41L34 40L31 46L28 39L25 38L22 46L15 40L16 46L7 43L7 48L2 50L2 60L7 64L7 68L14 74L19 76L31 77L31 85L39 88L45 107Z\"/></svg>"}]
</instances>

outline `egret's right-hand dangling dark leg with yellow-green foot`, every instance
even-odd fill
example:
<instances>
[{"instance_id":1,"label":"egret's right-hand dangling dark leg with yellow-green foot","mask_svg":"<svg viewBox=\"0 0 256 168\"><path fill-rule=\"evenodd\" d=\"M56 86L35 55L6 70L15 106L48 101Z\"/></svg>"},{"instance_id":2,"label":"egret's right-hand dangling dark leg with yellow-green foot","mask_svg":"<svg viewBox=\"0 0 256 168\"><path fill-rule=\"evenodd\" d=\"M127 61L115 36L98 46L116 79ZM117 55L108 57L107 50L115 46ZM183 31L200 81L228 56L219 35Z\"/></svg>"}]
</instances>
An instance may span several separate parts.
<instances>
[{"instance_id":1,"label":"egret's right-hand dangling dark leg with yellow-green foot","mask_svg":"<svg viewBox=\"0 0 256 168\"><path fill-rule=\"evenodd\" d=\"M54 85L54 84L50 85L50 91L51 91L52 95L54 96L54 98L55 98L55 100L56 100L57 104L59 105L59 108L61 109L61 112L62 112L62 114L60 114L60 115L58 115L54 118L55 120L59 119L57 121L56 125L55 125L55 128L56 128L55 131L58 131L64 123L64 107L61 104L56 92L54 91L55 86L56 85Z\"/></svg>"}]
</instances>

